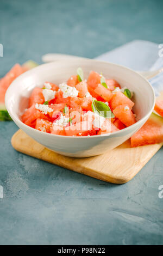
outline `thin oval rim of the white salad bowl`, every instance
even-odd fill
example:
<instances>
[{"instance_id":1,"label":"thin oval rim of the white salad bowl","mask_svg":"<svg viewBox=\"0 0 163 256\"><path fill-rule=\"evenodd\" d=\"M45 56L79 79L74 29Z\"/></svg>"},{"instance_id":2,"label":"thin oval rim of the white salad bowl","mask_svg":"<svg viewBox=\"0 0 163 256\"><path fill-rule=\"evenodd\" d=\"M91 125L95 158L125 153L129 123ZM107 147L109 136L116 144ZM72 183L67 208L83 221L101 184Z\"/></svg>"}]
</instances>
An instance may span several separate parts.
<instances>
[{"instance_id":1,"label":"thin oval rim of the white salad bowl","mask_svg":"<svg viewBox=\"0 0 163 256\"><path fill-rule=\"evenodd\" d=\"M30 74L33 74L35 72L35 70L37 69L42 69L44 67L48 68L48 66L51 66L51 65L59 65L59 64L67 64L67 65L70 65L70 64L74 64L74 63L77 63L78 60L81 62L81 61L86 61L86 62L97 62L97 63L102 63L102 64L110 64L110 65L113 65L113 66L118 66L119 68L122 68L122 69L125 69L125 70L129 70L130 72L133 72L134 74L136 74L137 76L140 76L143 80L146 81L146 83L148 84L148 87L149 89L151 89L151 92L152 92L152 97L153 97L153 104L152 104L152 107L151 109L148 111L148 113L143 117L141 118L140 120L138 120L135 124L133 125L130 125L122 130L119 130L119 131L115 131L115 132L111 132L111 133L104 133L102 135L92 135L92 136L67 136L67 135L55 135L53 133L47 133L47 132L42 132L42 131L39 131L39 130L36 130L26 124L24 124L20 118L17 117L17 115L15 113L12 113L10 111L10 106L9 106L9 103L8 103L8 94L10 92L10 90L12 89L12 87L15 86L15 84L17 83L17 81L21 80L21 78L23 77L26 77ZM9 86L9 88L7 89L7 92L5 93L5 106L7 108L7 111L9 112L11 118L14 120L14 122L17 124L20 124L20 126L24 126L25 129L29 130L29 131L34 131L36 133L39 133L40 135L43 135L43 136L53 136L53 137L60 137L60 138L74 138L74 139L81 139L81 138L97 138L97 137L109 137L110 135L118 135L119 133L123 133L130 130L131 127L136 127L137 125L139 125L140 123L143 122L143 120L145 120L146 118L148 118L151 114L152 114L152 111L154 109L154 105L155 105L155 93L154 93L154 89L153 87L151 86L151 84L149 83L149 81L143 77L141 74L139 74L138 72L134 71L133 69L130 69L130 68L127 68L126 66L123 66L123 65L119 65L119 64L115 64L115 63L111 63L111 62L105 62L105 61L101 61L101 60L96 60L96 59L88 59L88 58L83 58L83 60L81 60L81 58L79 57L79 59L66 59L66 60L59 60L57 62L51 62L51 63L45 63L45 64L41 64L39 66L36 66L35 68L31 69L31 70L28 70L26 72L24 72L22 75L18 76ZM16 120L16 121L15 121Z\"/></svg>"}]
</instances>

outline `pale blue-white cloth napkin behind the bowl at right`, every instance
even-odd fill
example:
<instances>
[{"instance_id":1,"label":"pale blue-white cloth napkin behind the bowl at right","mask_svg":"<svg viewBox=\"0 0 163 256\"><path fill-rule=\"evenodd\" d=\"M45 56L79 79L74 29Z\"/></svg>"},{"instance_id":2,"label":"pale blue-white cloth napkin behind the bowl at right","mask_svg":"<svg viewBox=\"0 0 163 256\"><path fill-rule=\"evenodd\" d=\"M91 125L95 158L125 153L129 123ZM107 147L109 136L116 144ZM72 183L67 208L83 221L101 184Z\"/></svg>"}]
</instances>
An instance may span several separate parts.
<instances>
[{"instance_id":1,"label":"pale blue-white cloth napkin behind the bowl at right","mask_svg":"<svg viewBox=\"0 0 163 256\"><path fill-rule=\"evenodd\" d=\"M159 51L159 45L154 42L134 40L96 59L124 65L137 71L157 70L163 68L163 57L159 57ZM163 72L151 78L149 82L158 96L163 90Z\"/></svg>"}]
</instances>

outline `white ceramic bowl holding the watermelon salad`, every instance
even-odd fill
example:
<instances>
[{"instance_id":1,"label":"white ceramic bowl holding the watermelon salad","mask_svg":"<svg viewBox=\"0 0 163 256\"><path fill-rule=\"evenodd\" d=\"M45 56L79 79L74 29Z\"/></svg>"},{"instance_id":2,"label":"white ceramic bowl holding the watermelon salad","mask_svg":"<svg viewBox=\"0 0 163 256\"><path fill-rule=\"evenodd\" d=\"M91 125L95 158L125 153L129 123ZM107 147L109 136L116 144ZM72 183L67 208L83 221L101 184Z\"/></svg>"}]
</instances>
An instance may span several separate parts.
<instances>
[{"instance_id":1,"label":"white ceramic bowl holding the watermelon salad","mask_svg":"<svg viewBox=\"0 0 163 256\"><path fill-rule=\"evenodd\" d=\"M78 67L84 71L84 77L91 70L103 72L103 76L114 78L122 87L134 92L134 111L140 119L136 124L121 131L106 135L90 137L59 136L35 130L22 123L20 116L27 108L28 97L34 87L42 87L45 81L59 84L76 74ZM100 62L98 60L75 59L40 65L22 74L12 82L5 95L5 105L18 127L35 141L41 143L61 155L87 157L106 153L122 144L146 122L152 113L155 103L153 88L149 82L137 72L124 66Z\"/></svg>"}]
</instances>

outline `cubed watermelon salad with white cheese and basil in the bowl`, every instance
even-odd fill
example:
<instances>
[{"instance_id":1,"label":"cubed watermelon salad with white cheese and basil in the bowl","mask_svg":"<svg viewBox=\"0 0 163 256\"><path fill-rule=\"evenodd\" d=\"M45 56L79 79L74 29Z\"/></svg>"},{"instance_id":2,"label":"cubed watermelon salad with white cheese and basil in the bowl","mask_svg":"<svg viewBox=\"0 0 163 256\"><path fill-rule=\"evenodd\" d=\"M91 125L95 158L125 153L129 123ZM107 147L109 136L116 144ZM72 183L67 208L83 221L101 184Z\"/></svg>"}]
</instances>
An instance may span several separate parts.
<instances>
[{"instance_id":1,"label":"cubed watermelon salad with white cheese and basil in the bowl","mask_svg":"<svg viewBox=\"0 0 163 256\"><path fill-rule=\"evenodd\" d=\"M102 135L136 123L132 96L128 88L95 71L85 80L79 68L66 82L35 87L22 121L55 135Z\"/></svg>"}]
</instances>

